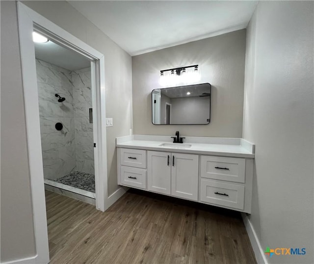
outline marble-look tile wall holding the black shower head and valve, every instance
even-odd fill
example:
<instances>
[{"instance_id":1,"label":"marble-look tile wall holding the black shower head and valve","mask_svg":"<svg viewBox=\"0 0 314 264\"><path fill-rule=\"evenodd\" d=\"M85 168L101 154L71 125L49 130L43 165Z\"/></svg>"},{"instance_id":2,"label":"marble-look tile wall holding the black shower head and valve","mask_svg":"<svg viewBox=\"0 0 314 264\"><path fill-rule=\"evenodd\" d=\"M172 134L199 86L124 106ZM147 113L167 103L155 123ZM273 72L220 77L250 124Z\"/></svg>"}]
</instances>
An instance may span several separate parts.
<instances>
[{"instance_id":1,"label":"marble-look tile wall holding the black shower head and valve","mask_svg":"<svg viewBox=\"0 0 314 264\"><path fill-rule=\"evenodd\" d=\"M36 71L44 177L57 179L76 170L72 72L38 59Z\"/></svg>"}]
</instances>

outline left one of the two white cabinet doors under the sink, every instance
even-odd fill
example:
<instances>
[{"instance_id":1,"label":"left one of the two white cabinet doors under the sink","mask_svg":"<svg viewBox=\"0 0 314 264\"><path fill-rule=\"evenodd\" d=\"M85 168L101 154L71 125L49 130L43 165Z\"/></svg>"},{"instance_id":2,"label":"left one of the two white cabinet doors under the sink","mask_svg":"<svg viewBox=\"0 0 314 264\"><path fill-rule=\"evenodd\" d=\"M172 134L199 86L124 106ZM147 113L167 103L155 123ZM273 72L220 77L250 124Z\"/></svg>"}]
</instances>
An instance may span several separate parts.
<instances>
[{"instance_id":1,"label":"left one of the two white cabinet doors under the sink","mask_svg":"<svg viewBox=\"0 0 314 264\"><path fill-rule=\"evenodd\" d=\"M148 190L170 194L171 193L171 153L147 152L147 187Z\"/></svg>"}]
</instances>

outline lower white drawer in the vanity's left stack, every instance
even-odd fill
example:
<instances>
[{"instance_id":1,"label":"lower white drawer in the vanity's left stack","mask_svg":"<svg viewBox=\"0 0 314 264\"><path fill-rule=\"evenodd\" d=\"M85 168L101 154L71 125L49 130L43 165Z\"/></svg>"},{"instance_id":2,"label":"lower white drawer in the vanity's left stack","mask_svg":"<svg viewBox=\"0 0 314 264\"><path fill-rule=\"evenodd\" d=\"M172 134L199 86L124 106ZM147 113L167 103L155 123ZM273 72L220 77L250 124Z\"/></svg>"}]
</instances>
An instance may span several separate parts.
<instances>
[{"instance_id":1,"label":"lower white drawer in the vanity's left stack","mask_svg":"<svg viewBox=\"0 0 314 264\"><path fill-rule=\"evenodd\" d=\"M146 189L146 170L121 166L121 184Z\"/></svg>"}]
</instances>

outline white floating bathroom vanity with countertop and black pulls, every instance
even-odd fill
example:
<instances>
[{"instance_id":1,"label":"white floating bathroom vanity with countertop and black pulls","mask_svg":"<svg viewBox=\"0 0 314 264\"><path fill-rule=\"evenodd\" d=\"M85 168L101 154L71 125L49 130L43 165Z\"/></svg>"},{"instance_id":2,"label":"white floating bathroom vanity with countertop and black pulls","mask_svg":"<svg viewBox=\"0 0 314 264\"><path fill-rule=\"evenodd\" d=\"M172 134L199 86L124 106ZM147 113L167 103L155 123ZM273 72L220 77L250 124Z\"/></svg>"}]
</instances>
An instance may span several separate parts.
<instances>
[{"instance_id":1,"label":"white floating bathroom vanity with countertop and black pulls","mask_svg":"<svg viewBox=\"0 0 314 264\"><path fill-rule=\"evenodd\" d=\"M116 138L118 184L251 212L255 145L242 138Z\"/></svg>"}]
</instances>

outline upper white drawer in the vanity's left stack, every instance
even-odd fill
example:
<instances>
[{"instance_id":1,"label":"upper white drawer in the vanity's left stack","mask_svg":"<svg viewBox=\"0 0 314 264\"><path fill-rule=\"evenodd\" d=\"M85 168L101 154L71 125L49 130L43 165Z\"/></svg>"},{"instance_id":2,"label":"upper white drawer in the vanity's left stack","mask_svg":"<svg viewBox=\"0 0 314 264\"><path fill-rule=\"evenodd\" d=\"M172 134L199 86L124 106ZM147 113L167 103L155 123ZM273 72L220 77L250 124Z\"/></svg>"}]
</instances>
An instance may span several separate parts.
<instances>
[{"instance_id":1,"label":"upper white drawer in the vanity's left stack","mask_svg":"<svg viewBox=\"0 0 314 264\"><path fill-rule=\"evenodd\" d=\"M120 155L121 165L146 168L146 150L121 149Z\"/></svg>"}]
</instances>

